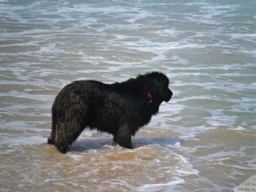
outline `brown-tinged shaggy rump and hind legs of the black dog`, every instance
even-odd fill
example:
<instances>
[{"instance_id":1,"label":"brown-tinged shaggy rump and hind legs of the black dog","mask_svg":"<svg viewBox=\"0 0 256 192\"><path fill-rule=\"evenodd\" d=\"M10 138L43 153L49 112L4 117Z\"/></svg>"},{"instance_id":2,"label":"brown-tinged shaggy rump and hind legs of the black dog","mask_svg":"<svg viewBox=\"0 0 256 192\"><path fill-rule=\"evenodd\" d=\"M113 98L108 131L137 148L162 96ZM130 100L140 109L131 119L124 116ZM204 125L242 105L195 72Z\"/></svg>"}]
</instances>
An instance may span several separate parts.
<instances>
[{"instance_id":1,"label":"brown-tinged shaggy rump and hind legs of the black dog","mask_svg":"<svg viewBox=\"0 0 256 192\"><path fill-rule=\"evenodd\" d=\"M66 90L67 91L67 90ZM57 150L66 153L68 146L75 142L86 125L86 101L76 90L67 94L60 92L52 106L52 133L48 143L56 146Z\"/></svg>"}]
</instances>

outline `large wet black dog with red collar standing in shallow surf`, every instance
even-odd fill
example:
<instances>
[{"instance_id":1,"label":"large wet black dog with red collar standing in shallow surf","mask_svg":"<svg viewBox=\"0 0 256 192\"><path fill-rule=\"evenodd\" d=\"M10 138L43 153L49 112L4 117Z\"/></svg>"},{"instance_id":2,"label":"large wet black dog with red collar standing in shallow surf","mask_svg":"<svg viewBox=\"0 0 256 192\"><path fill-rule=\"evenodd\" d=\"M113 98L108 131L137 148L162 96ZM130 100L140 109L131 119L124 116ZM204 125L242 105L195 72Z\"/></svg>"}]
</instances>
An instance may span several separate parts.
<instances>
[{"instance_id":1,"label":"large wet black dog with red collar standing in shallow surf","mask_svg":"<svg viewBox=\"0 0 256 192\"><path fill-rule=\"evenodd\" d=\"M52 106L52 132L48 144L66 153L85 128L113 135L120 146L132 149L131 137L150 122L172 91L160 72L139 75L125 82L104 84L94 80L65 86Z\"/></svg>"}]
</instances>

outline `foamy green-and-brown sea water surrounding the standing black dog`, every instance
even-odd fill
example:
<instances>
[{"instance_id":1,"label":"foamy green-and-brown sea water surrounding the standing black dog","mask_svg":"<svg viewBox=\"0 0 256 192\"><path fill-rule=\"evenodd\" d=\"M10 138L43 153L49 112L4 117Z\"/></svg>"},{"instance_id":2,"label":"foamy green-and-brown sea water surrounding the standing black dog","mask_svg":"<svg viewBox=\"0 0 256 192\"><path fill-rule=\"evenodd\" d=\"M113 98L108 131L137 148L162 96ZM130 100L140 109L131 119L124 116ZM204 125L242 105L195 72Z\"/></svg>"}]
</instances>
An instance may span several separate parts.
<instances>
[{"instance_id":1,"label":"foamy green-and-brown sea water surrounding the standing black dog","mask_svg":"<svg viewBox=\"0 0 256 192\"><path fill-rule=\"evenodd\" d=\"M256 175L256 2L0 0L0 190L229 192ZM74 80L160 71L174 96L133 150L47 144Z\"/></svg>"}]
</instances>

